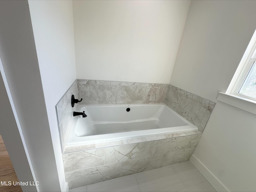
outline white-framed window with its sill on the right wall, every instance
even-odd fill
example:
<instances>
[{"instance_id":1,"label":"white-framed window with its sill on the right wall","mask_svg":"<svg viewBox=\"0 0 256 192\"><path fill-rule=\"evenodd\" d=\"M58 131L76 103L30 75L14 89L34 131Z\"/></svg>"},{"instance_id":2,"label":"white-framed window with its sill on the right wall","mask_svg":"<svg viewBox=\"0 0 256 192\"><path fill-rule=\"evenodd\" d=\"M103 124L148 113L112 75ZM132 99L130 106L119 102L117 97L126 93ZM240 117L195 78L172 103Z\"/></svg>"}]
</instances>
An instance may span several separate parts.
<instances>
[{"instance_id":1,"label":"white-framed window with its sill on the right wall","mask_svg":"<svg viewBox=\"0 0 256 192\"><path fill-rule=\"evenodd\" d=\"M228 86L217 100L256 114L256 30Z\"/></svg>"}]
</instances>

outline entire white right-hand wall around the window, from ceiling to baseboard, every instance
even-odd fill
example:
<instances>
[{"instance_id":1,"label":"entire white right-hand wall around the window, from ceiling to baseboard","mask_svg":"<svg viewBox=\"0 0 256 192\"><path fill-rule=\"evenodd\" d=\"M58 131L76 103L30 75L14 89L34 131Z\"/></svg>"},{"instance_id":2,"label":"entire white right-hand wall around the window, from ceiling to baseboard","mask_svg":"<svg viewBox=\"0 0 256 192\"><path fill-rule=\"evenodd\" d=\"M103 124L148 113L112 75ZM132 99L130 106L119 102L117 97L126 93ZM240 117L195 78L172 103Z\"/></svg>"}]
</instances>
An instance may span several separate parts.
<instances>
[{"instance_id":1,"label":"entire white right-hand wall around the window, from ceiling to baseboard","mask_svg":"<svg viewBox=\"0 0 256 192\"><path fill-rule=\"evenodd\" d=\"M194 157L230 191L255 191L256 116L222 102L256 28L256 1L192 1L170 84L217 102ZM206 170L205 169L205 170ZM220 184L220 185L221 185Z\"/></svg>"}]
</instances>

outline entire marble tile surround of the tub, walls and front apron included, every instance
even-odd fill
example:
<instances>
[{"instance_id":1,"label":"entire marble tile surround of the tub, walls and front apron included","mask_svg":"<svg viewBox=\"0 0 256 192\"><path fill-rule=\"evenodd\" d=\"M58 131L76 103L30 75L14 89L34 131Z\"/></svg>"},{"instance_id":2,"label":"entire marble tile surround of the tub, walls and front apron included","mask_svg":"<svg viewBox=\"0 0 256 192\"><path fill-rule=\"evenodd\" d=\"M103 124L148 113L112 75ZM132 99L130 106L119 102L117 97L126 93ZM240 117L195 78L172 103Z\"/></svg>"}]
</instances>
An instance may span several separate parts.
<instances>
[{"instance_id":1,"label":"entire marble tile surround of the tub, walls and front apron included","mask_svg":"<svg viewBox=\"0 0 256 192\"><path fill-rule=\"evenodd\" d=\"M80 104L165 103L202 132L215 103L169 84L76 80L56 105L66 180L76 188L190 159L201 132L184 132L65 148L73 122L70 98ZM77 148L76 148L77 151Z\"/></svg>"}]
</instances>

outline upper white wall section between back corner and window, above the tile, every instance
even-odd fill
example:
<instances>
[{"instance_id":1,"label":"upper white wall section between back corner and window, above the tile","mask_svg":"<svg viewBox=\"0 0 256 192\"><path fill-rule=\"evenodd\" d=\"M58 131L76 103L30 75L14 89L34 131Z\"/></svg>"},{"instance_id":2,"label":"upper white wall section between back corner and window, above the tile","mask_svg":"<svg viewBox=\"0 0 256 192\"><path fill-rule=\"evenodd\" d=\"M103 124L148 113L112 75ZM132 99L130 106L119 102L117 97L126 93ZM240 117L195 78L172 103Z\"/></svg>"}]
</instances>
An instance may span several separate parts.
<instances>
[{"instance_id":1,"label":"upper white wall section between back corner and window, above the tile","mask_svg":"<svg viewBox=\"0 0 256 192\"><path fill-rule=\"evenodd\" d=\"M256 27L255 1L192 1L170 84L216 102Z\"/></svg>"}]
</instances>

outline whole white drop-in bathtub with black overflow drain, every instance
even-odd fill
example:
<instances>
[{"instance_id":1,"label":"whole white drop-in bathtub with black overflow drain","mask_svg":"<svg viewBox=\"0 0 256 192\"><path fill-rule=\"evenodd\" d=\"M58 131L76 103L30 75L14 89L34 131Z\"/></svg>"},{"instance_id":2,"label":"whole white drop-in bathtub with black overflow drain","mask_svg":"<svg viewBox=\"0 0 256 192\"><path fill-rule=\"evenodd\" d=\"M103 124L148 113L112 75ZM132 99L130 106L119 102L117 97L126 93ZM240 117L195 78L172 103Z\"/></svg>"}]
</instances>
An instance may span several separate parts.
<instances>
[{"instance_id":1,"label":"whole white drop-in bathtub with black overflow drain","mask_svg":"<svg viewBox=\"0 0 256 192\"><path fill-rule=\"evenodd\" d=\"M79 105L77 111L87 117L74 117L66 147L198 130L165 104Z\"/></svg>"}]
</instances>

